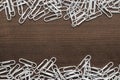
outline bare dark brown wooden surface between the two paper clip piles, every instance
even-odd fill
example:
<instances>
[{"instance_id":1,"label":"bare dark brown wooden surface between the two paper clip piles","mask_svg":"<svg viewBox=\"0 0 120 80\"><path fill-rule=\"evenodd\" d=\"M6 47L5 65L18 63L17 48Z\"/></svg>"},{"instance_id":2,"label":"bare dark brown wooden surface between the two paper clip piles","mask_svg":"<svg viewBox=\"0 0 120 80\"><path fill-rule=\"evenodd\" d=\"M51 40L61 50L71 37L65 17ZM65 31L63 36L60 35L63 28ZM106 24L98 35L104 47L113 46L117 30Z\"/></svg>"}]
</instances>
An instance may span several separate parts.
<instances>
[{"instance_id":1,"label":"bare dark brown wooden surface between the two paper clip piles","mask_svg":"<svg viewBox=\"0 0 120 80\"><path fill-rule=\"evenodd\" d=\"M87 55L93 66L102 67L109 61L120 64L120 15L111 19L105 15L76 28L63 19L45 23L27 20L18 23L19 16L7 21L0 13L0 61L20 57L40 63L57 57L57 65L78 65Z\"/></svg>"}]
</instances>

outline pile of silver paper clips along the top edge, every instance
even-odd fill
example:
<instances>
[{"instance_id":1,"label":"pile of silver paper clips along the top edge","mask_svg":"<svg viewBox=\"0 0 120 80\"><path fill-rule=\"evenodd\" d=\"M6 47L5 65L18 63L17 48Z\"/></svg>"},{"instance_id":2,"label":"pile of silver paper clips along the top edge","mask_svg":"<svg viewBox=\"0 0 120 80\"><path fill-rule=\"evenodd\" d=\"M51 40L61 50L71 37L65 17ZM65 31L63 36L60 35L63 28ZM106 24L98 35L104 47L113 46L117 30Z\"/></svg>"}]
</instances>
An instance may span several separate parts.
<instances>
[{"instance_id":1,"label":"pile of silver paper clips along the top edge","mask_svg":"<svg viewBox=\"0 0 120 80\"><path fill-rule=\"evenodd\" d=\"M41 18L45 22L64 18L71 20L75 27L102 14L111 18L120 13L120 0L0 0L0 11L5 10L7 20L20 15L19 23L26 19L34 21Z\"/></svg>"}]
</instances>

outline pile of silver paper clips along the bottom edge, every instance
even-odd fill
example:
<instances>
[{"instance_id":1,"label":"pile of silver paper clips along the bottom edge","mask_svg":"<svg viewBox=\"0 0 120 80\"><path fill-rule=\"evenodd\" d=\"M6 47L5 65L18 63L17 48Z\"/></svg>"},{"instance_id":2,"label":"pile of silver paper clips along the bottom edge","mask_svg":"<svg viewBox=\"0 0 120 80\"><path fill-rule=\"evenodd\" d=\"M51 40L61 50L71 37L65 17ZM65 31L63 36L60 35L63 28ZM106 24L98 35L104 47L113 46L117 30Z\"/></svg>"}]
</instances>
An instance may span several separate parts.
<instances>
[{"instance_id":1,"label":"pile of silver paper clips along the bottom edge","mask_svg":"<svg viewBox=\"0 0 120 80\"><path fill-rule=\"evenodd\" d=\"M27 59L0 62L0 80L120 80L120 66L109 62L102 68L91 66L87 55L78 66L58 67L56 58L44 59L39 65Z\"/></svg>"}]
</instances>

